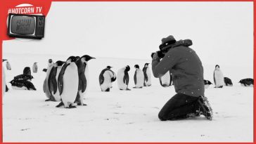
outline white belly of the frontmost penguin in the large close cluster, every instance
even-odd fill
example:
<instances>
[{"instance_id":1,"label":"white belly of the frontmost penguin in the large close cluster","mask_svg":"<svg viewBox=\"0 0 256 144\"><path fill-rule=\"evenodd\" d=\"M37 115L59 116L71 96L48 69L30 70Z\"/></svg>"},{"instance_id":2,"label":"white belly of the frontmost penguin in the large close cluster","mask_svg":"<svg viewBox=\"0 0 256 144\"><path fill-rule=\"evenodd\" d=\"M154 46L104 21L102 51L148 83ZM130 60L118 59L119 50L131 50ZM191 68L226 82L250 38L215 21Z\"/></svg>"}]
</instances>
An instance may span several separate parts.
<instances>
[{"instance_id":1,"label":"white belly of the frontmost penguin in the large close cluster","mask_svg":"<svg viewBox=\"0 0 256 144\"><path fill-rule=\"evenodd\" d=\"M77 65L75 65L75 63L70 63L63 75L63 93L61 94L61 99L65 107L68 107L70 104L75 102L75 98L77 97L77 89Z\"/></svg>"}]
</instances>

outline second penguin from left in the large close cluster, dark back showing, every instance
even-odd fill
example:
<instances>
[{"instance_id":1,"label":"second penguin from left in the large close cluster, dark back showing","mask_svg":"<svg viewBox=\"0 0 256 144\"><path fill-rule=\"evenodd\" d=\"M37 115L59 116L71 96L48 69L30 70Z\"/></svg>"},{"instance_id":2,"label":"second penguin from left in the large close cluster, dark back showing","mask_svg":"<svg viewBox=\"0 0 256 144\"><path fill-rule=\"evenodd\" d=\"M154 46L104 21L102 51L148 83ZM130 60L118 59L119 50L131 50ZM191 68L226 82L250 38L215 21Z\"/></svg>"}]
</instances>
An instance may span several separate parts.
<instances>
[{"instance_id":1,"label":"second penguin from left in the large close cluster, dark back showing","mask_svg":"<svg viewBox=\"0 0 256 144\"><path fill-rule=\"evenodd\" d=\"M60 74L60 70L62 65L65 62L58 60L56 63L54 63L53 67L51 68L51 72L49 74L48 79L48 87L49 91L51 93L51 96L53 96L54 101L60 101L60 91L58 90L58 75Z\"/></svg>"}]
</instances>

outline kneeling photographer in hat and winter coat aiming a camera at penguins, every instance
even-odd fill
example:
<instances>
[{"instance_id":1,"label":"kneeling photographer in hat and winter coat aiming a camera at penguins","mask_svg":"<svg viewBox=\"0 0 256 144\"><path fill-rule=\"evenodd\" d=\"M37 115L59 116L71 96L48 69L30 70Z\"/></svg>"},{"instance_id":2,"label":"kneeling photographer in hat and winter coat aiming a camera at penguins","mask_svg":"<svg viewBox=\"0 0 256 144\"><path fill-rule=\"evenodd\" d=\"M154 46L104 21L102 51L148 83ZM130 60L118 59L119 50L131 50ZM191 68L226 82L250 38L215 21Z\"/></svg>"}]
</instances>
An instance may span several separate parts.
<instances>
[{"instance_id":1,"label":"kneeling photographer in hat and winter coat aiming a camera at penguins","mask_svg":"<svg viewBox=\"0 0 256 144\"><path fill-rule=\"evenodd\" d=\"M203 65L189 39L176 41L172 35L162 39L160 51L153 53L154 77L172 73L175 94L160 110L160 120L184 119L203 114L212 119L212 108L204 96Z\"/></svg>"}]
</instances>

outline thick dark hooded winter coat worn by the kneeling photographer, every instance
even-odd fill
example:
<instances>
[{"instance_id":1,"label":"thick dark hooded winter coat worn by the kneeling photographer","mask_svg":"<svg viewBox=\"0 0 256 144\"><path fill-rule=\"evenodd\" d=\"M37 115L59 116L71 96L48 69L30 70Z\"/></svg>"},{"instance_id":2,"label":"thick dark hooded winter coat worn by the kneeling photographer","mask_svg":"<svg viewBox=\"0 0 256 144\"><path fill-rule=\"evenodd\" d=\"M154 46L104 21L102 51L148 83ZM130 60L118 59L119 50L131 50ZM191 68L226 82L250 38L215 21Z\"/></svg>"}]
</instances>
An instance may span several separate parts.
<instances>
[{"instance_id":1,"label":"thick dark hooded winter coat worn by the kneeling photographer","mask_svg":"<svg viewBox=\"0 0 256 144\"><path fill-rule=\"evenodd\" d=\"M184 41L177 41L177 44L165 53L162 60L160 58L152 60L152 71L154 77L161 77L167 71L172 73L172 81L177 93L195 97L204 96L203 65L196 52L188 46L189 44L184 44Z\"/></svg>"}]
</instances>

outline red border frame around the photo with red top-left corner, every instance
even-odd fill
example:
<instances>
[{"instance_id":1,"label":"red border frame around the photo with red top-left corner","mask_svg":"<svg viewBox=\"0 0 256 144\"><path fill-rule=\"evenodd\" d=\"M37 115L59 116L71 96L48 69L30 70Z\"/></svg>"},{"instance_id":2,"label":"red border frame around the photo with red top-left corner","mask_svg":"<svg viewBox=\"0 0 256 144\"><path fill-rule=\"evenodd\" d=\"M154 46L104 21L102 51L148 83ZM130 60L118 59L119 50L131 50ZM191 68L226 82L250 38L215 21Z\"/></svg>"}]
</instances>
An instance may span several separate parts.
<instances>
[{"instance_id":1,"label":"red border frame around the photo with red top-left corner","mask_svg":"<svg viewBox=\"0 0 256 144\"><path fill-rule=\"evenodd\" d=\"M3 30L2 28L5 27L6 25L6 6L8 6L7 4L13 4L13 6L16 6L18 4L45 4L45 5L49 5L49 8L51 7L51 2L53 1L72 1L72 0L0 0L0 48L1 48L1 59L2 59L2 44L3 44L3 41L6 40L4 39L5 35L6 35L6 32L5 30ZM74 1L156 1L156 0L74 0ZM215 2L214 0L160 0L160 1L206 1L206 2ZM216 1L241 1L241 0L216 0ZM255 1L256 0L245 0L245 1L253 1L253 30L255 30L255 14L256 14L256 10L255 10L255 7L256 7L256 3ZM244 1L243 1L244 2ZM48 13L49 9L47 10L46 13ZM255 51L255 41L256 41L256 38L255 38L255 34L254 34L254 44L253 44L253 79L255 79L255 74L256 74L256 71L255 71L255 54L256 54L256 51ZM0 66L2 66L2 63L0 63ZM0 71L0 74L2 74L2 71ZM1 79L1 78L0 78ZM0 86L0 90L2 91L2 86ZM255 114L256 114L256 111L255 111L255 87L253 89L253 143L255 143ZM1 95L1 94L0 94ZM2 96L0 98L0 103L2 103ZM0 143L3 143L3 111L2 111L2 107L0 107L0 125L1 125L1 131L0 131ZM59 144L59 143L56 143L56 144ZM94 143L94 144L99 144L99 143ZM113 143L106 143L106 144L113 144ZM132 144L132 143L123 143L123 144ZM155 143L155 144L158 144L158 143ZM183 143L180 143L180 144L183 144Z\"/></svg>"}]
</instances>

